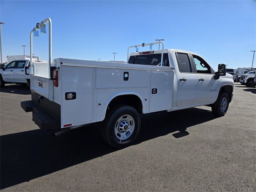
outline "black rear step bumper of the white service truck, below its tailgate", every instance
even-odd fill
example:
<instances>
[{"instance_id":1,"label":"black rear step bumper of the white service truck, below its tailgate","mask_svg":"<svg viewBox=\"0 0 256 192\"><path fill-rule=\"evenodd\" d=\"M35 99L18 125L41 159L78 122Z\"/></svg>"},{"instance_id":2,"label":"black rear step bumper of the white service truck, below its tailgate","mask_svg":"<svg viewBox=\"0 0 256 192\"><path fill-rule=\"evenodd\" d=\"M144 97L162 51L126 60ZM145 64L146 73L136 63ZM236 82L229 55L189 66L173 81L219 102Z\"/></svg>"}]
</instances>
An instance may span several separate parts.
<instances>
[{"instance_id":1,"label":"black rear step bumper of the white service truck, below its tailgate","mask_svg":"<svg viewBox=\"0 0 256 192\"><path fill-rule=\"evenodd\" d=\"M32 120L40 129L59 129L60 121L48 112L34 104L32 100L20 102L20 106L25 112L33 112Z\"/></svg>"}]
</instances>

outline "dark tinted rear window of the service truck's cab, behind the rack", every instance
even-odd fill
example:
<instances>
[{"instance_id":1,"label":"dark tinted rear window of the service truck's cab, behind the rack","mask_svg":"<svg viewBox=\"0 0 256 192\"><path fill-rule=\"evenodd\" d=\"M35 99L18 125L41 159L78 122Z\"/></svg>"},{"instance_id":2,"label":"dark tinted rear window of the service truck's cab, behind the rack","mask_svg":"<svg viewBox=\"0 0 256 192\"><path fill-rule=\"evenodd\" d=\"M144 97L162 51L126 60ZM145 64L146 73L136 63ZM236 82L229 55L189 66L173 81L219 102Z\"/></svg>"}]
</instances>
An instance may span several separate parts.
<instances>
[{"instance_id":1,"label":"dark tinted rear window of the service truck's cab, behind the rack","mask_svg":"<svg viewBox=\"0 0 256 192\"><path fill-rule=\"evenodd\" d=\"M162 54L144 54L130 56L128 63L139 64L139 65L158 65L161 63ZM163 66L169 66L168 53L164 53L163 56Z\"/></svg>"}]
</instances>

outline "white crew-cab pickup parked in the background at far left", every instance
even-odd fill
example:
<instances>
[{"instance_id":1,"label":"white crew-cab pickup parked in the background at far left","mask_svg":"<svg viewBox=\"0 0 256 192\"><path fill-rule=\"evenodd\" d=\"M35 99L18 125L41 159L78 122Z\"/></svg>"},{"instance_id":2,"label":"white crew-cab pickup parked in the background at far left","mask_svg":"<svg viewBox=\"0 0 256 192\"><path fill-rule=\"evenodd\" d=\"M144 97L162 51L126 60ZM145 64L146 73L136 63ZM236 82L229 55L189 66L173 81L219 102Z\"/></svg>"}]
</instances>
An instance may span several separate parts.
<instances>
[{"instance_id":1,"label":"white crew-cab pickup parked in the background at far left","mask_svg":"<svg viewBox=\"0 0 256 192\"><path fill-rule=\"evenodd\" d=\"M30 83L30 61L14 60L0 68L0 87L6 83L27 85Z\"/></svg>"}]
</instances>

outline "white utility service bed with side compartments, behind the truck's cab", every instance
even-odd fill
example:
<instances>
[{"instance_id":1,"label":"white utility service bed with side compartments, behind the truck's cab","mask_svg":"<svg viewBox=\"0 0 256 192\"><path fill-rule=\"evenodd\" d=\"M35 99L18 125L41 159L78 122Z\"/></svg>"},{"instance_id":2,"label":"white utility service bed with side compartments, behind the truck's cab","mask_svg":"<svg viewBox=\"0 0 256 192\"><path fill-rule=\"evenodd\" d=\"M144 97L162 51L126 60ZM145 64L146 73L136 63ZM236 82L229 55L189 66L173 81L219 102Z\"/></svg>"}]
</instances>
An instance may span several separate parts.
<instances>
[{"instance_id":1,"label":"white utility service bed with side compartments, behind the truck's cab","mask_svg":"<svg viewBox=\"0 0 256 192\"><path fill-rule=\"evenodd\" d=\"M56 101L55 98L62 96L62 127L66 124L76 126L104 120L108 104L119 95L138 96L142 101L144 113L171 108L174 70L170 67L63 58L55 59L54 64L60 67L58 74L60 81L58 81L58 87L54 87L54 101ZM129 72L128 81L123 80L124 72ZM66 78L70 76L74 78ZM161 82L161 87L159 87L159 82ZM150 96L150 88L154 84L158 84L159 97ZM31 85L33 85L32 82ZM46 86L46 89L48 88ZM42 91L42 88L37 89L35 86L31 89L49 98L49 95L44 92L45 89ZM76 99L65 100L63 95L66 92L76 92ZM164 99L166 102L157 101L159 99Z\"/></svg>"}]
</instances>

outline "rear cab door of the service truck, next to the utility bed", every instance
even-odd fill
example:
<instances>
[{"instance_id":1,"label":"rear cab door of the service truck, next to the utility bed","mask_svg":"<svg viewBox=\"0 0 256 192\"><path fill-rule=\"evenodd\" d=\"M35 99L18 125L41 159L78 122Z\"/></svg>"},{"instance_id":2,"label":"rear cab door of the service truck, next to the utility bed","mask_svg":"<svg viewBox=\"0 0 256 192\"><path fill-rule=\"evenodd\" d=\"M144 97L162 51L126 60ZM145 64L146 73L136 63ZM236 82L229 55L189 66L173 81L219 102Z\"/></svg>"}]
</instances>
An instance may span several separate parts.
<instances>
[{"instance_id":1,"label":"rear cab door of the service truck, next to the utility bed","mask_svg":"<svg viewBox=\"0 0 256 192\"><path fill-rule=\"evenodd\" d=\"M196 100L198 78L195 73L192 73L192 59L182 52L176 52L176 59L178 63L177 83L178 83L178 97L177 107L189 106L194 104Z\"/></svg>"}]
</instances>

